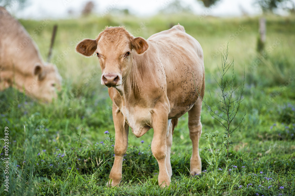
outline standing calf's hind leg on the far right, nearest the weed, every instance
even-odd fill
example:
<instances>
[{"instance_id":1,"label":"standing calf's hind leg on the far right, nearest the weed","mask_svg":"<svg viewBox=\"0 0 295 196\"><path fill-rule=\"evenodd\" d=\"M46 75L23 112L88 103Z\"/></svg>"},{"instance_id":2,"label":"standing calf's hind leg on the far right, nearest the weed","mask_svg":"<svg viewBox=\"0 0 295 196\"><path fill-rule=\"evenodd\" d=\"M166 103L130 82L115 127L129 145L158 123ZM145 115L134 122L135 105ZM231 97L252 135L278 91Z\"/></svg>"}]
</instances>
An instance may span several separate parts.
<instances>
[{"instance_id":1,"label":"standing calf's hind leg on the far right, nearest the weed","mask_svg":"<svg viewBox=\"0 0 295 196\"><path fill-rule=\"evenodd\" d=\"M190 173L196 175L201 173L202 163L199 155L199 139L202 134L202 123L201 123L201 108L202 100L199 97L196 100L194 106L189 110L189 138L193 145L191 161L190 161Z\"/></svg>"}]
</instances>

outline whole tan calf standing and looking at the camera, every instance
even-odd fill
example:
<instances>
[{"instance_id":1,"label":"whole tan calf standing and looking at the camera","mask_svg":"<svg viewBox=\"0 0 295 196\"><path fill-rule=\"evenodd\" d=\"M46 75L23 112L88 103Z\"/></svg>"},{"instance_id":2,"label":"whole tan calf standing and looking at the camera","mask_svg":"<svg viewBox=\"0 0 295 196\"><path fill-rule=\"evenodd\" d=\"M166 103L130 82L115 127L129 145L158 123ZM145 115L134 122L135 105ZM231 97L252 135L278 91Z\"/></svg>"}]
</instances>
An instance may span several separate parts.
<instances>
[{"instance_id":1,"label":"whole tan calf standing and looking at the camera","mask_svg":"<svg viewBox=\"0 0 295 196\"><path fill-rule=\"evenodd\" d=\"M192 141L190 173L201 173L199 138L205 89L204 58L196 39L183 26L152 35L133 37L123 27L106 27L99 36L78 43L76 51L99 58L101 84L113 101L115 159L108 185L122 179L122 161L128 145L128 129L136 137L154 129L151 150L159 165L159 185L171 182L170 153L178 118L189 113Z\"/></svg>"}]
</instances>

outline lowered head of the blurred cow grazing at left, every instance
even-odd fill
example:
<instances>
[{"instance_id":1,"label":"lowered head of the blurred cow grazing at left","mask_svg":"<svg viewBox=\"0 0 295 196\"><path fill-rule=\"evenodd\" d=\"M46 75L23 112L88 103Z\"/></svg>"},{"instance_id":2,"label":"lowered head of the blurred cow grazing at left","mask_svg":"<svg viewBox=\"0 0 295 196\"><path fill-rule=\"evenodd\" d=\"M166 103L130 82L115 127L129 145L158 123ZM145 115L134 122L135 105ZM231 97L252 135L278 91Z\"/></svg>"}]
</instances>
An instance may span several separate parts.
<instances>
[{"instance_id":1,"label":"lowered head of the blurred cow grazing at left","mask_svg":"<svg viewBox=\"0 0 295 196\"><path fill-rule=\"evenodd\" d=\"M47 63L44 66L37 63L26 91L37 99L51 102L53 98L57 98L57 91L61 90L61 79L55 65Z\"/></svg>"}]
</instances>

